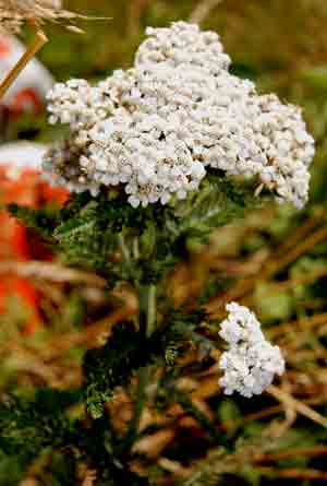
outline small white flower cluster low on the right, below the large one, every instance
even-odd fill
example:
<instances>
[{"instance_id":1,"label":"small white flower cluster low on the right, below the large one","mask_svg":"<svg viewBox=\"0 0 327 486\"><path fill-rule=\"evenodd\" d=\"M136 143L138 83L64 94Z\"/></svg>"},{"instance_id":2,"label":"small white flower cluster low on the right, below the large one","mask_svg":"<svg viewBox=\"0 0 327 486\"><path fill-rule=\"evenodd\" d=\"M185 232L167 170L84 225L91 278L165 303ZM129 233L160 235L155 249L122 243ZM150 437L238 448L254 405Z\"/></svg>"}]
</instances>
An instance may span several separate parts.
<instances>
[{"instance_id":1,"label":"small white flower cluster low on the right, below the large one","mask_svg":"<svg viewBox=\"0 0 327 486\"><path fill-rule=\"evenodd\" d=\"M219 335L229 349L219 361L223 370L219 383L228 395L258 395L271 384L275 375L283 374L284 360L279 347L266 341L253 312L235 303L228 304L227 310L229 317L222 321Z\"/></svg>"}]
</instances>

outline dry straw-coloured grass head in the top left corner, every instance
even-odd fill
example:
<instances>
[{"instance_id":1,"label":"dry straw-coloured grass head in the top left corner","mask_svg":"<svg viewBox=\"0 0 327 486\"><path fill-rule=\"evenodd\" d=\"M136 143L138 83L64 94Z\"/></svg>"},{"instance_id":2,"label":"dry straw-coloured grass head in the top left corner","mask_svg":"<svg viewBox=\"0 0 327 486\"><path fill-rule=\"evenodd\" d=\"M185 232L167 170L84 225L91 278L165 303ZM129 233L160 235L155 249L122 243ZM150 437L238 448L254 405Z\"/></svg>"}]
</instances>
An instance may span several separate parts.
<instances>
[{"instance_id":1,"label":"dry straw-coloured grass head in the top left corner","mask_svg":"<svg viewBox=\"0 0 327 486\"><path fill-rule=\"evenodd\" d=\"M4 32L19 33L25 21L40 25L74 16L62 9L61 0L0 0L0 29Z\"/></svg>"}]
</instances>

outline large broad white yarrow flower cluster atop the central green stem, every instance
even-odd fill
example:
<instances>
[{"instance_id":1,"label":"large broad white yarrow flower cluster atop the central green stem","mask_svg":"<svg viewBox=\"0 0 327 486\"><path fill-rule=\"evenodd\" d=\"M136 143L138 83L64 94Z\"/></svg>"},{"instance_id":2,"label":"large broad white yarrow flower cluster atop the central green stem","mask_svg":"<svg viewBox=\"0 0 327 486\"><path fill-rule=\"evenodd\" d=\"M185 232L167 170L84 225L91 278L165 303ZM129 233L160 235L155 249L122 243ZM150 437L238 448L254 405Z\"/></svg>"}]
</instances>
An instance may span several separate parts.
<instances>
[{"instance_id":1,"label":"large broad white yarrow flower cluster atop the central green stem","mask_svg":"<svg viewBox=\"0 0 327 486\"><path fill-rule=\"evenodd\" d=\"M279 201L307 199L314 141L299 108L229 73L219 36L178 22L148 28L134 67L92 87L58 84L50 122L68 123L78 156L47 159L70 190L122 185L133 206L196 190L207 168L257 177Z\"/></svg>"}]
</instances>

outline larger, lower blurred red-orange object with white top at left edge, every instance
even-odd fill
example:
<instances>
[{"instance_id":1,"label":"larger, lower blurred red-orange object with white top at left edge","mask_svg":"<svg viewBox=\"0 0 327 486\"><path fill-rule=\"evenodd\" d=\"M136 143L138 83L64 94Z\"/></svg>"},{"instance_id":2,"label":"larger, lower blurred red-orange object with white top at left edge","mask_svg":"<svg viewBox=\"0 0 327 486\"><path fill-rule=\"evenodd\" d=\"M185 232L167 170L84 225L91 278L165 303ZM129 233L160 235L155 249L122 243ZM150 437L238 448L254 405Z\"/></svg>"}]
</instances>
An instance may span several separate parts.
<instances>
[{"instance_id":1,"label":"larger, lower blurred red-orange object with white top at left edge","mask_svg":"<svg viewBox=\"0 0 327 486\"><path fill-rule=\"evenodd\" d=\"M40 178L40 163L46 147L27 142L3 145L0 149L0 203L15 202L28 208L43 208L47 203L62 205L68 192L51 188ZM29 158L31 157L31 158ZM28 162L29 161L29 162ZM7 211L0 211L0 262L48 260L48 249L33 238L28 244L26 228ZM33 333L41 325L38 295L33 282L13 274L1 275L0 312L7 311L11 296L19 298L26 308L28 318L24 332Z\"/></svg>"}]
</instances>

